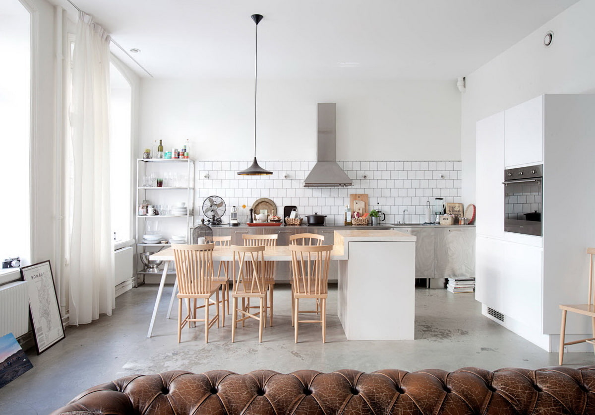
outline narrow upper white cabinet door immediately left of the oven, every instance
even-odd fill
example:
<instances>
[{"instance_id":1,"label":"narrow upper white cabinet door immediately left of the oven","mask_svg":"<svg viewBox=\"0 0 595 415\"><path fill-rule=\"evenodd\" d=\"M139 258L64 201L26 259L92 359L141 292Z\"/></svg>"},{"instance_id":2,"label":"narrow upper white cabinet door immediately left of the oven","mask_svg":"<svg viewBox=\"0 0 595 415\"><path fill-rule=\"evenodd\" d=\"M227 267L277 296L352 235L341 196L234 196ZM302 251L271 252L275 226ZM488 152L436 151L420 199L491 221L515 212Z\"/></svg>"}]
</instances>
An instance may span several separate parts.
<instances>
[{"instance_id":1,"label":"narrow upper white cabinet door immediately left of the oven","mask_svg":"<svg viewBox=\"0 0 595 415\"><path fill-rule=\"evenodd\" d=\"M477 235L504 236L504 113L477 122Z\"/></svg>"}]
</instances>

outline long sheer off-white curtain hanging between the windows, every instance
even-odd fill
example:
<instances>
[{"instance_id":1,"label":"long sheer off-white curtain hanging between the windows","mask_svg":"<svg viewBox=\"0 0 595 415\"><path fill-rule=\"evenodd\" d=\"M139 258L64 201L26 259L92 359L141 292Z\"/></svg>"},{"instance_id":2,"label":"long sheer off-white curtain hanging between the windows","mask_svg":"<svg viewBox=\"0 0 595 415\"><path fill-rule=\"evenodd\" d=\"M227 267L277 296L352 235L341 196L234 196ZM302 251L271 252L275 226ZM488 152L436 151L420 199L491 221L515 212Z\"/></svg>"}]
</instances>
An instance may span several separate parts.
<instances>
[{"instance_id":1,"label":"long sheer off-white curtain hanging between the windows","mask_svg":"<svg viewBox=\"0 0 595 415\"><path fill-rule=\"evenodd\" d=\"M109 202L109 35L79 14L70 108L70 232L66 280L70 324L90 323L115 307Z\"/></svg>"}]
</instances>

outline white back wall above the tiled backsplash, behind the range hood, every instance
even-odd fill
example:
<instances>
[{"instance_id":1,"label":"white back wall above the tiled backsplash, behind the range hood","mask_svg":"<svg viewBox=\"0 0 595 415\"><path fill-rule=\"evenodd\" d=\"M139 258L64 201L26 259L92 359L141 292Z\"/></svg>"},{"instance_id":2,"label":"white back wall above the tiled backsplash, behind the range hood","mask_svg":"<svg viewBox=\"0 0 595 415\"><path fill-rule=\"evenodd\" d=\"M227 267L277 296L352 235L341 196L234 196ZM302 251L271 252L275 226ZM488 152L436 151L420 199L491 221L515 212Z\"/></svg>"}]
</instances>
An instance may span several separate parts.
<instances>
[{"instance_id":1,"label":"white back wall above the tiled backsplash, behind the range hood","mask_svg":"<svg viewBox=\"0 0 595 415\"><path fill-rule=\"evenodd\" d=\"M258 160L315 160L318 102L337 103L337 160L461 158L455 80L259 80ZM196 160L252 158L252 79L143 79L141 108L140 151L189 138Z\"/></svg>"}]
</instances>

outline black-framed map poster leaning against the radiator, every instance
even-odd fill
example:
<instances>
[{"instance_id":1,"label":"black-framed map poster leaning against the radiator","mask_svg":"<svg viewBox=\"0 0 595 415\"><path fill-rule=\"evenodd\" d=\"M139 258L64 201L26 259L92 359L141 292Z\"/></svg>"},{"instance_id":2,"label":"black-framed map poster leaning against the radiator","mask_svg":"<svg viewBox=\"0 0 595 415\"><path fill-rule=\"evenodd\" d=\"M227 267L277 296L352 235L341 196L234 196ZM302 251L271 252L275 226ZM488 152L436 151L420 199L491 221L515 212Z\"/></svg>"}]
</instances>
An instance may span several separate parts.
<instances>
[{"instance_id":1,"label":"black-framed map poster leaning against the radiator","mask_svg":"<svg viewBox=\"0 0 595 415\"><path fill-rule=\"evenodd\" d=\"M64 338L64 327L49 260L22 267L21 276L23 281L27 282L31 323L37 354L40 354Z\"/></svg>"}]
</instances>

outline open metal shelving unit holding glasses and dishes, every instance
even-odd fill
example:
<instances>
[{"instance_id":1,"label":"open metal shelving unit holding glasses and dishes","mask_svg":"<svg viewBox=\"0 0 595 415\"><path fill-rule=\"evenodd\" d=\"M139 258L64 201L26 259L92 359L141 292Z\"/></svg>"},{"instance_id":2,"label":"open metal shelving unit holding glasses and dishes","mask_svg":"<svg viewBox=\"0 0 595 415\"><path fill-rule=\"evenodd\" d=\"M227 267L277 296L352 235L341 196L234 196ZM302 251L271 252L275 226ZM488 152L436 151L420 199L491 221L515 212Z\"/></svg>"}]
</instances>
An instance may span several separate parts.
<instances>
[{"instance_id":1,"label":"open metal shelving unit holding glasses and dishes","mask_svg":"<svg viewBox=\"0 0 595 415\"><path fill-rule=\"evenodd\" d=\"M164 166L167 165L172 166L183 166L186 164L186 174L187 174L187 185L186 186L167 186L167 187L153 187L153 186L144 186L142 177L147 176L148 173L164 173ZM145 223L147 220L154 220L154 219L167 219L167 220L174 220L173 218L186 218L186 238L190 240L190 228L194 224L194 171L195 164L194 160L186 158L186 159L169 159L169 158L139 158L136 160L136 264L137 264L137 272L136 277L133 280L133 286L139 286L139 283L145 282L146 275L161 275L161 272L154 273L154 272L146 272L145 267L143 266L142 262L139 260L138 254L145 252L146 249L156 251L158 247L167 248L171 246L171 244L143 244L142 242L142 235L145 232ZM184 183L186 184L186 183ZM186 206L188 207L188 214L184 216L178 215L139 215L139 207L142 204L143 200L151 200L151 197L155 197L156 195L164 193L167 195L168 193L173 193L176 191L186 191L185 199L186 199ZM168 275L175 275L175 271L170 271L167 273Z\"/></svg>"}]
</instances>

